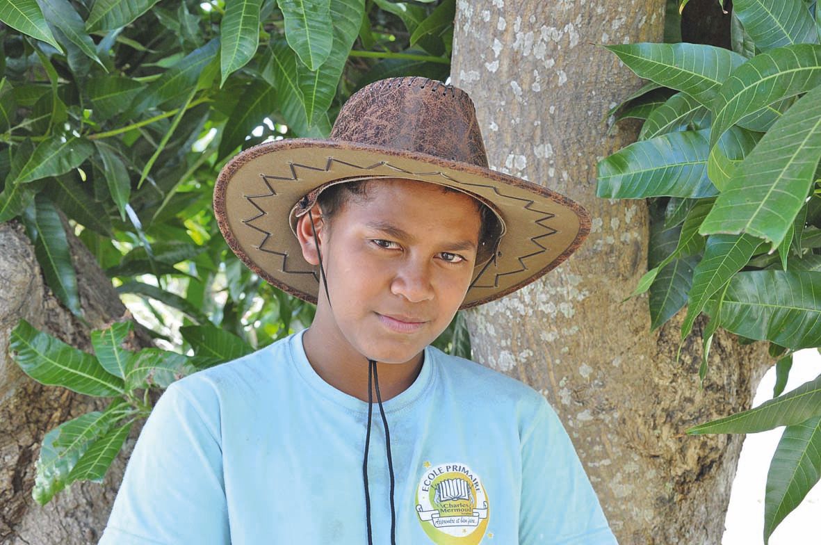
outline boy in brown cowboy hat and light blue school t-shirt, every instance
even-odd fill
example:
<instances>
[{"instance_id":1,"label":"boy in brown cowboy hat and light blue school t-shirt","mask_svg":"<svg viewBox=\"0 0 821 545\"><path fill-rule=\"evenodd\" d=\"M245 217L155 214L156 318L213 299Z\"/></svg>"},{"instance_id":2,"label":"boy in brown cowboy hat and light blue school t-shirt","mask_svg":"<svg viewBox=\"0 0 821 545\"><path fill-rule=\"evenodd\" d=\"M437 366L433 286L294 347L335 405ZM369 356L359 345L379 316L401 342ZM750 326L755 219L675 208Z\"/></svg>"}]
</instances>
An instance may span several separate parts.
<instances>
[{"instance_id":1,"label":"boy in brown cowboy hat and light blue school t-shirt","mask_svg":"<svg viewBox=\"0 0 821 545\"><path fill-rule=\"evenodd\" d=\"M214 210L314 323L163 393L101 543L616 543L544 397L429 346L589 226L488 169L467 94L368 85L330 140L232 159Z\"/></svg>"}]
</instances>

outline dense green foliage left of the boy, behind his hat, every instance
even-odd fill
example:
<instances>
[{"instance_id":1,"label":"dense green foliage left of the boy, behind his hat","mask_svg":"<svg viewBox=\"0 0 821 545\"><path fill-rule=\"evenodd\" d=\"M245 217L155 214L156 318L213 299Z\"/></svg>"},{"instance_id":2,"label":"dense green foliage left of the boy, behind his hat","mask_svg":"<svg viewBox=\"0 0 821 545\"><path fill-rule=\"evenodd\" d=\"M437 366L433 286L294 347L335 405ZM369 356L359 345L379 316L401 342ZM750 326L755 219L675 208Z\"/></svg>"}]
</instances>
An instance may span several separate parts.
<instances>
[{"instance_id":1,"label":"dense green foliage left of the boy, behind his hat","mask_svg":"<svg viewBox=\"0 0 821 545\"><path fill-rule=\"evenodd\" d=\"M325 137L355 89L447 77L453 0L0 0L0 222L20 221L44 277L83 319L77 235L159 348L134 325L91 333L94 355L21 322L32 378L108 409L51 430L34 498L103 478L149 392L310 323L228 250L213 181L239 149ZM469 353L455 321L438 346Z\"/></svg>"}]
</instances>

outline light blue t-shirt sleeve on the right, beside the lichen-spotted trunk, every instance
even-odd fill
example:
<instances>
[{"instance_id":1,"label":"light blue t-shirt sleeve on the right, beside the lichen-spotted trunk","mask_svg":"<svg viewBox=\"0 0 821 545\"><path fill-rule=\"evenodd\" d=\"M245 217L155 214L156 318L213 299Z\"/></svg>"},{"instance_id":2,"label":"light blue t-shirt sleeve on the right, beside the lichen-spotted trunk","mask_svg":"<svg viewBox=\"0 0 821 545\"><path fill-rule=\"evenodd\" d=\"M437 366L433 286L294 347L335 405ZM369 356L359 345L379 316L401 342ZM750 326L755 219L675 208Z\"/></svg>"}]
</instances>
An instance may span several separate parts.
<instances>
[{"instance_id":1,"label":"light blue t-shirt sleeve on the right, beside the lichen-spotted trunk","mask_svg":"<svg viewBox=\"0 0 821 545\"><path fill-rule=\"evenodd\" d=\"M617 543L570 437L547 401L521 448L521 545Z\"/></svg>"}]
</instances>

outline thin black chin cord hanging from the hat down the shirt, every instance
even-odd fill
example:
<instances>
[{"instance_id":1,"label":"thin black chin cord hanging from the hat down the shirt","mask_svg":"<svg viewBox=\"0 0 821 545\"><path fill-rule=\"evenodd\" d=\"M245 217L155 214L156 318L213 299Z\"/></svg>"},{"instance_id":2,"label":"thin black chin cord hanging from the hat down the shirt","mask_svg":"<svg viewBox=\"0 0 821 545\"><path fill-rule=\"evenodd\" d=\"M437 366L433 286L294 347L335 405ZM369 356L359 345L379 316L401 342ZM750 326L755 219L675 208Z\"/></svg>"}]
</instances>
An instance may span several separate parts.
<instances>
[{"instance_id":1,"label":"thin black chin cord hanging from the hat down the shirt","mask_svg":"<svg viewBox=\"0 0 821 545\"><path fill-rule=\"evenodd\" d=\"M322 263L322 254L319 251L319 239L314 228L314 217L308 208L308 218L311 223L311 230L314 233L314 245L319 259L319 276L322 277L325 286L325 296L328 298L328 306L331 306L331 295L328 293L328 278L325 276L325 268ZM382 424L385 428L385 448L388 455L388 474L391 479L391 545L397 543L397 510L393 501L393 492L396 487L396 479L393 476L393 459L391 457L391 432L388 428L388 419L385 417L385 409L382 406L382 394L379 392L379 378L376 372L376 361L368 360L368 428L365 432L365 455L362 456L362 479L365 481L365 523L368 525L368 545L374 545L373 530L370 524L370 491L368 488L368 451L370 447L370 427L374 414L374 394L376 391L376 401L379 405L379 414L382 416Z\"/></svg>"}]
</instances>

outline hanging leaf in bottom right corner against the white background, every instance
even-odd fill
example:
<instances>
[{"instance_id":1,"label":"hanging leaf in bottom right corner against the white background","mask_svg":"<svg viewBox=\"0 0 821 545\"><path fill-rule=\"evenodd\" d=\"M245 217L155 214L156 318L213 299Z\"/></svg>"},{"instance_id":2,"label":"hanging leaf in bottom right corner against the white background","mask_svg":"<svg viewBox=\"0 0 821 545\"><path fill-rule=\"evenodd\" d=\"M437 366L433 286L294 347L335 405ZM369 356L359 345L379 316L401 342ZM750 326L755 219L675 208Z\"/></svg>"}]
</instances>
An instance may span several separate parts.
<instances>
[{"instance_id":1,"label":"hanging leaf in bottom right corner against the white background","mask_svg":"<svg viewBox=\"0 0 821 545\"><path fill-rule=\"evenodd\" d=\"M764 543L821 477L821 416L787 426L767 472Z\"/></svg>"}]
</instances>

